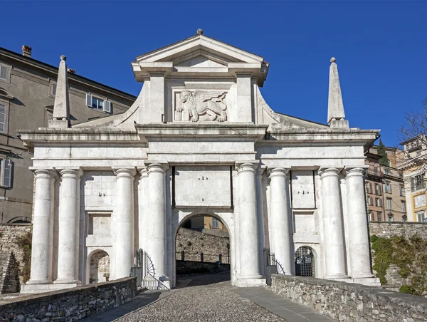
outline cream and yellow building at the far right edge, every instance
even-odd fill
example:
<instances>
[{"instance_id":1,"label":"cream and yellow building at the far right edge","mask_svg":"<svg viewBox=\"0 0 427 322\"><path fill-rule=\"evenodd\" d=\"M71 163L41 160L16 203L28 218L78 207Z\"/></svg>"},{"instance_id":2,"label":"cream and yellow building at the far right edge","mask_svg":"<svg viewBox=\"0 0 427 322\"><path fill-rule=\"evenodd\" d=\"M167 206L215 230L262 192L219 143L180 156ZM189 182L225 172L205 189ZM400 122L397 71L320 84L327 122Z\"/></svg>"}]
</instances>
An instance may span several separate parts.
<instances>
[{"instance_id":1,"label":"cream and yellow building at the far right edge","mask_svg":"<svg viewBox=\"0 0 427 322\"><path fill-rule=\"evenodd\" d=\"M398 169L404 173L408 221L426 222L426 137L413 137L401 142L401 145L404 146L404 160Z\"/></svg>"}]
</instances>

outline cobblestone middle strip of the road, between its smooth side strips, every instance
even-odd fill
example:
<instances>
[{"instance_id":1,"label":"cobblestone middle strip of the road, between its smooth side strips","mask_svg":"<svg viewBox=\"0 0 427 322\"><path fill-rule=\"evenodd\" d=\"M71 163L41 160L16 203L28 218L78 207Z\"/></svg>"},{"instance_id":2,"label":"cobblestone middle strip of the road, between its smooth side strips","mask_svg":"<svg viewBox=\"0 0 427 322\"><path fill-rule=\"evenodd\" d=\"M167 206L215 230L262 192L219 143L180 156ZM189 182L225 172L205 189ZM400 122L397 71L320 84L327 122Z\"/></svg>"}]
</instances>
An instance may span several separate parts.
<instances>
[{"instance_id":1,"label":"cobblestone middle strip of the road, between its smooth side strips","mask_svg":"<svg viewBox=\"0 0 427 322\"><path fill-rule=\"evenodd\" d=\"M285 321L231 291L228 274L189 276L189 285L116 321Z\"/></svg>"}]
</instances>

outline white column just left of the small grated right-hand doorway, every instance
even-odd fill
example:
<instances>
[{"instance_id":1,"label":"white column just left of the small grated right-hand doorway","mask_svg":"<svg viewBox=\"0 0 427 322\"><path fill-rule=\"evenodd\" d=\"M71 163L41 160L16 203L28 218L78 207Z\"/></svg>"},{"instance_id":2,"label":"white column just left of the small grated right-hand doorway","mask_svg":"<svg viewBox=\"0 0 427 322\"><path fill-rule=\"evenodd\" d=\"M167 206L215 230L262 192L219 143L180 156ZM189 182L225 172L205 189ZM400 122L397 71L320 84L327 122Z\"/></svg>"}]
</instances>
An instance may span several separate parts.
<instances>
[{"instance_id":1,"label":"white column just left of the small grated right-hand doorway","mask_svg":"<svg viewBox=\"0 0 427 322\"><path fill-rule=\"evenodd\" d=\"M292 250L292 213L288 200L286 175L289 169L276 167L270 171L270 222L278 271L292 275L294 254ZM283 270L283 271L282 271Z\"/></svg>"}]
</instances>

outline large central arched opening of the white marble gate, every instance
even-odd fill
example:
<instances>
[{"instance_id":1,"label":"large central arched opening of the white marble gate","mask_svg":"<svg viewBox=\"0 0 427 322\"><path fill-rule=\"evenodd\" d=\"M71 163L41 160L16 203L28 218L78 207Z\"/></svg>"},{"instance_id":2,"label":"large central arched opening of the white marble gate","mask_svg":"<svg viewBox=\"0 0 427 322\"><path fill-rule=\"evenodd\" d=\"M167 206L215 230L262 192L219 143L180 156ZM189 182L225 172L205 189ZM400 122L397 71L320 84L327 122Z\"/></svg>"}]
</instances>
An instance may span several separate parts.
<instances>
[{"instance_id":1,"label":"large central arched opening of the white marble gate","mask_svg":"<svg viewBox=\"0 0 427 322\"><path fill-rule=\"evenodd\" d=\"M194 214L184 218L175 235L175 274L230 272L230 235L219 217ZM229 274L228 274L229 278Z\"/></svg>"}]
</instances>

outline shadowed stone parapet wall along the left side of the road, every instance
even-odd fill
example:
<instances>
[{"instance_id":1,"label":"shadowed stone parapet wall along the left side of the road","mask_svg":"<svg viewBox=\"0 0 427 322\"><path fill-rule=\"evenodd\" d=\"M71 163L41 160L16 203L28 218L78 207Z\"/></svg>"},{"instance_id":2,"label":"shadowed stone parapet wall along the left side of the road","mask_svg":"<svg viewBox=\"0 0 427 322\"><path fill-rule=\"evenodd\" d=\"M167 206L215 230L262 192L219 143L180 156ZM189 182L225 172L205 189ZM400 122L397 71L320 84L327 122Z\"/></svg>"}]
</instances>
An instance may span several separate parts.
<instances>
[{"instance_id":1,"label":"shadowed stone parapet wall along the left side of the road","mask_svg":"<svg viewBox=\"0 0 427 322\"><path fill-rule=\"evenodd\" d=\"M19 296L0 303L0 321L77 321L133 298L137 278Z\"/></svg>"}]
</instances>

